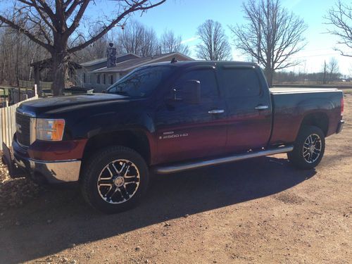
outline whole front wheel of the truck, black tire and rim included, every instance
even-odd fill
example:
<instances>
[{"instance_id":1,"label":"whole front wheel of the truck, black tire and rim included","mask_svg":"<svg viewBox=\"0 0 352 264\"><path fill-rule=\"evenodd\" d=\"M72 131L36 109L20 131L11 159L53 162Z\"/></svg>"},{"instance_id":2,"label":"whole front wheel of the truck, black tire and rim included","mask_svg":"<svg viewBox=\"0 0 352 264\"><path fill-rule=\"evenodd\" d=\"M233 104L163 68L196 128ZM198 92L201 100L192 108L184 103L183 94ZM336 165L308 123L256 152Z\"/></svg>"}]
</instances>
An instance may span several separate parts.
<instances>
[{"instance_id":1,"label":"whole front wheel of the truck, black tire and rim included","mask_svg":"<svg viewBox=\"0 0 352 264\"><path fill-rule=\"evenodd\" d=\"M139 202L148 182L149 169L139 153L124 146L111 146L89 157L80 187L92 207L103 213L118 213Z\"/></svg>"}]
</instances>

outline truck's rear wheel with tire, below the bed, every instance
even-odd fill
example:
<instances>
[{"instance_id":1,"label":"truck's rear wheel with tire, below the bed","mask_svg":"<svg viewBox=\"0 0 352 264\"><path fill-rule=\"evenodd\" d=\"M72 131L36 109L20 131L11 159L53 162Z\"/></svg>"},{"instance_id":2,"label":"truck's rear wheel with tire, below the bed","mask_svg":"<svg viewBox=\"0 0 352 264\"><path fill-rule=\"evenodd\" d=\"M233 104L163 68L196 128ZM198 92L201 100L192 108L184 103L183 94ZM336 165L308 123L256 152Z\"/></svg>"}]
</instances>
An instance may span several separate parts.
<instances>
[{"instance_id":1,"label":"truck's rear wheel with tire, below the bed","mask_svg":"<svg viewBox=\"0 0 352 264\"><path fill-rule=\"evenodd\" d=\"M298 132L294 150L287 153L289 161L302 170L315 168L324 156L325 135L319 127L307 125Z\"/></svg>"}]
</instances>

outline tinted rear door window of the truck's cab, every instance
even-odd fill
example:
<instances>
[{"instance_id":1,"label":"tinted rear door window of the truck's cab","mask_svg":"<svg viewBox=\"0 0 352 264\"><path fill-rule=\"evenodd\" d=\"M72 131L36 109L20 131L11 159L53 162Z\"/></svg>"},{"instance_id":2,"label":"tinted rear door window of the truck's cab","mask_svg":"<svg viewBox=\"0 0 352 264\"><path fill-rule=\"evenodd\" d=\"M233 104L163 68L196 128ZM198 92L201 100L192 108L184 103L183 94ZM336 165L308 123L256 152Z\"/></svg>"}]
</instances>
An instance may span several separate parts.
<instances>
[{"instance_id":1,"label":"tinted rear door window of the truck's cab","mask_svg":"<svg viewBox=\"0 0 352 264\"><path fill-rule=\"evenodd\" d=\"M258 96L260 83L255 70L251 68L225 68L222 81L230 97Z\"/></svg>"}]
</instances>

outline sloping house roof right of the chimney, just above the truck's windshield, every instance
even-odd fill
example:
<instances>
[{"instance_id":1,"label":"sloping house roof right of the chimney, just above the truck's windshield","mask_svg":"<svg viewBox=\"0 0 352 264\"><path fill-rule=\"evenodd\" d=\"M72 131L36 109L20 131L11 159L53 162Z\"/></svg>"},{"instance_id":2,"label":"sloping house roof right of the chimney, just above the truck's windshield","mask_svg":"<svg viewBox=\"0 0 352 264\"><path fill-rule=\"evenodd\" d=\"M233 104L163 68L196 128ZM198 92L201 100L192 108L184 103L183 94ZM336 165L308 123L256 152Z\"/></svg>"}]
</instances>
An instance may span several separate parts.
<instances>
[{"instance_id":1,"label":"sloping house roof right of the chimney, just above the truck's windshield","mask_svg":"<svg viewBox=\"0 0 352 264\"><path fill-rule=\"evenodd\" d=\"M187 60L193 61L193 58L190 58L189 56L186 56L184 54L180 54L179 52L171 52L168 54L161 54L161 55L156 55L156 56L150 56L150 57L142 57L142 58L132 58L128 61L122 61L118 64L116 64L115 67L111 68L101 68L97 70L92 70L91 73L118 73L118 72L125 72L127 70L132 70L134 68L137 68L142 65L146 65L149 63L153 63L155 61L159 61L160 59L163 58L168 58L172 56L182 56Z\"/></svg>"}]
</instances>

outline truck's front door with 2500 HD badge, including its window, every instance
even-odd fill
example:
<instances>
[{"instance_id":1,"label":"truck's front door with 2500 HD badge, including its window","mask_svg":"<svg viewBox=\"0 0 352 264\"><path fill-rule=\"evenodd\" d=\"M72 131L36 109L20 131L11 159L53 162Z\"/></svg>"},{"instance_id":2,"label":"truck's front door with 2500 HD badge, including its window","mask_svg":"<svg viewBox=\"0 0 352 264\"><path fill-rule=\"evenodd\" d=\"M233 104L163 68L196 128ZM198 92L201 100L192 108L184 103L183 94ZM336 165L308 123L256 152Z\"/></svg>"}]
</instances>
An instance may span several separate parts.
<instances>
[{"instance_id":1,"label":"truck's front door with 2500 HD badge, including its window","mask_svg":"<svg viewBox=\"0 0 352 264\"><path fill-rule=\"evenodd\" d=\"M156 112L158 163L216 156L225 152L226 103L220 96L215 67L191 68L168 87L180 89L187 80L201 83L201 102L162 103Z\"/></svg>"}]
</instances>

